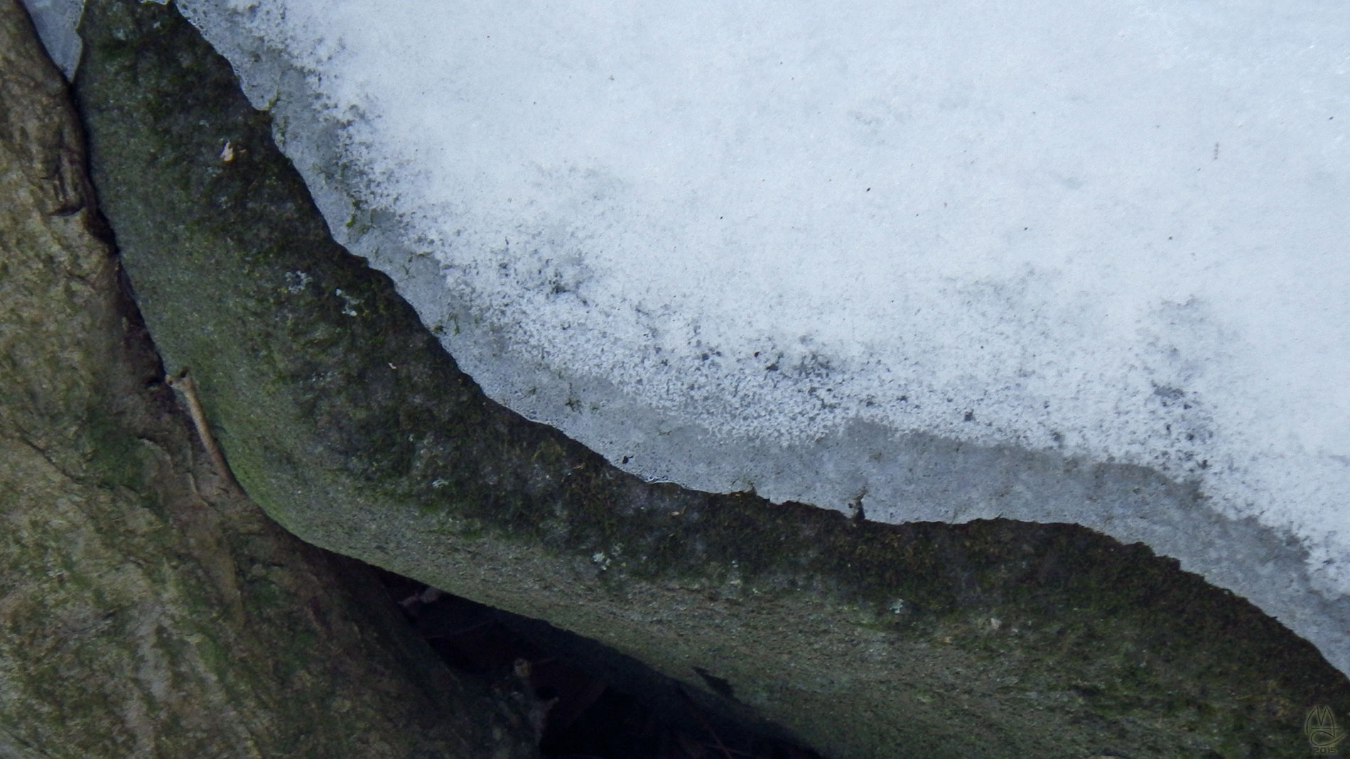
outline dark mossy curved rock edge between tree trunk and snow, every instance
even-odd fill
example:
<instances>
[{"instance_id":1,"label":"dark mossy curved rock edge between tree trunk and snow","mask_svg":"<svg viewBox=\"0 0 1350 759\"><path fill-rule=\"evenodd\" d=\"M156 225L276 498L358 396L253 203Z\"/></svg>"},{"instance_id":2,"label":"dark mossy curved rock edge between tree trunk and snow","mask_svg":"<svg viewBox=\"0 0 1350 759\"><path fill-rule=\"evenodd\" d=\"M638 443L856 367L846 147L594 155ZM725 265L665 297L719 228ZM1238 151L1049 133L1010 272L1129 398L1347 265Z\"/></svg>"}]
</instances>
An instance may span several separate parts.
<instances>
[{"instance_id":1,"label":"dark mossy curved rock edge between tree trunk and snow","mask_svg":"<svg viewBox=\"0 0 1350 759\"><path fill-rule=\"evenodd\" d=\"M171 8L92 1L84 34L93 177L150 329L306 541L609 643L840 758L1301 756L1310 708L1350 709L1311 646L1141 546L616 470L487 400L328 239L267 115Z\"/></svg>"}]
</instances>

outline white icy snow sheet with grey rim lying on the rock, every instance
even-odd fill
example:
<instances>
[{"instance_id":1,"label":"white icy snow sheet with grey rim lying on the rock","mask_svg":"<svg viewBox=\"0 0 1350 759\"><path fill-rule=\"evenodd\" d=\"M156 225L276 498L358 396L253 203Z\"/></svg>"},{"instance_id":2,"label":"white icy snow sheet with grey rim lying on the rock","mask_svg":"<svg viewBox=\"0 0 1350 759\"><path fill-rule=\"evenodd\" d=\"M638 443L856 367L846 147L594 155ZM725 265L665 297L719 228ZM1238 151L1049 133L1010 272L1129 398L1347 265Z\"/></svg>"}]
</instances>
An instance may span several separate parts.
<instances>
[{"instance_id":1,"label":"white icy snow sheet with grey rim lying on the rock","mask_svg":"<svg viewBox=\"0 0 1350 759\"><path fill-rule=\"evenodd\" d=\"M614 464L1122 539L886 448L1138 465L1350 593L1350 4L180 5L321 116L278 133L338 237Z\"/></svg>"}]
</instances>

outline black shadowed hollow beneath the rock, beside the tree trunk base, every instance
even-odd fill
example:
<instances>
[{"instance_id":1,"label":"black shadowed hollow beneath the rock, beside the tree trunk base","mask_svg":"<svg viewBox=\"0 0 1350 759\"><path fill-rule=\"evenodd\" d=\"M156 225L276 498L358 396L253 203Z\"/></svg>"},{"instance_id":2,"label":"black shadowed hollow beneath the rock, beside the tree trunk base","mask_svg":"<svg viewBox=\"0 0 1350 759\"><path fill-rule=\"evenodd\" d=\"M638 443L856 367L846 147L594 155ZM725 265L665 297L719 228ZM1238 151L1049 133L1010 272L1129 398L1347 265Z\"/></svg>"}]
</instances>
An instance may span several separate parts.
<instances>
[{"instance_id":1,"label":"black shadowed hollow beneath the rock, beside the tree trunk base","mask_svg":"<svg viewBox=\"0 0 1350 759\"><path fill-rule=\"evenodd\" d=\"M707 690L545 621L375 573L446 665L526 693L544 756L821 759L734 702L732 685L702 667L693 670Z\"/></svg>"}]
</instances>

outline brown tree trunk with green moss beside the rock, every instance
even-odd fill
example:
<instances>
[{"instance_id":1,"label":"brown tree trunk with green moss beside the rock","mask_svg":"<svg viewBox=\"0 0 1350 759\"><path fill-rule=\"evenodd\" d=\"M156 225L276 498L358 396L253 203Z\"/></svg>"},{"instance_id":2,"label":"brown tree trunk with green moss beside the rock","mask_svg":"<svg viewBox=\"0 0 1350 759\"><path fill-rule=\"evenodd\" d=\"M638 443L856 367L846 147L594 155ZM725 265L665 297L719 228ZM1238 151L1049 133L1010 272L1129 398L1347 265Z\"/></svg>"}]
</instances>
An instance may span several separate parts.
<instances>
[{"instance_id":1,"label":"brown tree trunk with green moss beside the rock","mask_svg":"<svg viewBox=\"0 0 1350 759\"><path fill-rule=\"evenodd\" d=\"M369 570L193 450L84 159L65 81L0 0L0 755L532 755Z\"/></svg>"}]
</instances>

